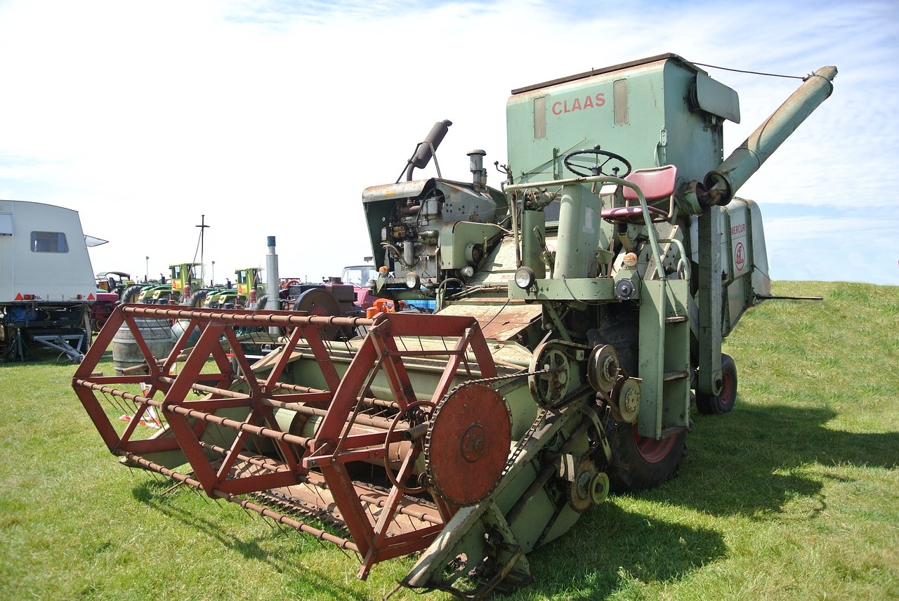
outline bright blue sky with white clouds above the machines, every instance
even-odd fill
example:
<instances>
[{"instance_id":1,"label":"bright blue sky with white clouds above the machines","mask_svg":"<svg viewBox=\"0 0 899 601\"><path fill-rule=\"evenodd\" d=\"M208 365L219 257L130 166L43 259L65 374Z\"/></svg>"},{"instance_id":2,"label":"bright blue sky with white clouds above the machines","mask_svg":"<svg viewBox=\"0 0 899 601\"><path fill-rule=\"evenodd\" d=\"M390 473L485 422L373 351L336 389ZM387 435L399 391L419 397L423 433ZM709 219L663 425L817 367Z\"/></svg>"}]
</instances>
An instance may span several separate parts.
<instances>
[{"instance_id":1,"label":"bright blue sky with white clouds above the machines","mask_svg":"<svg viewBox=\"0 0 899 601\"><path fill-rule=\"evenodd\" d=\"M738 196L761 206L772 278L899 285L895 2L3 0L0 198L76 209L110 241L95 271L192 261L204 215L217 280L263 266L269 235L282 276L317 280L370 254L361 191L435 121L453 121L443 175L468 180L471 149L505 162L512 89L665 52L837 66ZM725 155L799 83L708 72L740 94Z\"/></svg>"}]
</instances>

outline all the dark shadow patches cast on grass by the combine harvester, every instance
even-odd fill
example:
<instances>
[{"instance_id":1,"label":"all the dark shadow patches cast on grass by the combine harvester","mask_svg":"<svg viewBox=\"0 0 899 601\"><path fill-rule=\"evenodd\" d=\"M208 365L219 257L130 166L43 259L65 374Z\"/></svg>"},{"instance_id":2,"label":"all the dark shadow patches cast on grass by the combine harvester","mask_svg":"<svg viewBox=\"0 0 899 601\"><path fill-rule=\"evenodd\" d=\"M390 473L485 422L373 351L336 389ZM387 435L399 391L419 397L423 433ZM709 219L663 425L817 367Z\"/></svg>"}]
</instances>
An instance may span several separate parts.
<instances>
[{"instance_id":1,"label":"all the dark shadow patches cast on grass by the combine harvester","mask_svg":"<svg viewBox=\"0 0 899 601\"><path fill-rule=\"evenodd\" d=\"M837 415L827 408L744 402L727 415L695 416L680 475L633 498L664 503L673 511L683 508L713 516L758 519L777 516L788 501L804 498L814 517L827 506L822 479L829 476L809 477L804 473L805 466L899 466L899 433L825 428ZM169 485L168 481L151 479L139 483L132 494L165 516L214 538L223 548L264 561L280 573L295 574L290 579L296 584L291 586L298 590L312 585L326 589L334 598L369 598L335 585L331 574L298 567L299 556L319 551L302 535L292 544L275 545L280 548L275 552L261 545L265 536L252 540L227 536L219 517L206 519L191 508L181 507L177 496L187 494L186 491L179 491L174 497L161 496ZM267 524L273 528L273 536L282 536L277 526ZM727 551L725 533L719 530L647 517L623 508L612 498L587 511L574 532L531 553L535 582L529 588L498 598L549 597L560 591L569 594L566 598L603 598L631 580L682 579L691 571L724 558Z\"/></svg>"}]
</instances>

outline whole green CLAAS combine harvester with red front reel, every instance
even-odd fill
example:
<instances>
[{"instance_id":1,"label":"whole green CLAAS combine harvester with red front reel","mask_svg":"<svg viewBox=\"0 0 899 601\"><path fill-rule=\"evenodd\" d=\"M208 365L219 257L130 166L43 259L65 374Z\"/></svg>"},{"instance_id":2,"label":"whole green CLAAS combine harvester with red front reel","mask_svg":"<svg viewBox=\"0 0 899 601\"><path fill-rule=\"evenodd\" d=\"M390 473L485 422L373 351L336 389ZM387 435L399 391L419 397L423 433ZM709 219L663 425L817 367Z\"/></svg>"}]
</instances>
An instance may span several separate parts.
<instances>
[{"instance_id":1,"label":"whole green CLAAS combine harvester with red front reel","mask_svg":"<svg viewBox=\"0 0 899 601\"><path fill-rule=\"evenodd\" d=\"M770 296L760 212L734 192L834 75L809 75L724 161L737 95L681 57L515 90L502 191L482 151L471 182L413 179L443 121L406 181L363 193L378 295L431 298L434 314L120 305L74 389L124 464L356 552L360 579L418 553L405 587L524 585L528 553L610 490L677 472L694 393L701 412L733 406L722 338ZM114 333L139 340L147 319L199 329L178 368L184 340L143 349L147 375L96 375ZM289 333L251 363L235 329L253 326ZM367 333L328 341L335 327ZM121 402L128 426L110 419ZM138 439L151 408L165 428Z\"/></svg>"}]
</instances>

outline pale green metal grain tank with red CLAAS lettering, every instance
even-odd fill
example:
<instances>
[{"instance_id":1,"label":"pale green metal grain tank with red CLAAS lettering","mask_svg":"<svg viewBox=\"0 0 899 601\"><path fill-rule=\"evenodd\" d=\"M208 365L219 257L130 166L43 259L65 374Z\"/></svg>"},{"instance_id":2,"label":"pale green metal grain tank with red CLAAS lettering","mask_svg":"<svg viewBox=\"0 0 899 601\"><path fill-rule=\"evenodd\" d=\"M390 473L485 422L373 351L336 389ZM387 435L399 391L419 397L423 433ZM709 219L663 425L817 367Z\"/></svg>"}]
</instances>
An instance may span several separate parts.
<instances>
[{"instance_id":1,"label":"pale green metal grain tank with red CLAAS lettering","mask_svg":"<svg viewBox=\"0 0 899 601\"><path fill-rule=\"evenodd\" d=\"M568 177L563 157L596 145L635 169L676 164L681 180L701 180L723 158L724 118L700 108L697 74L706 84L702 106L739 114L733 90L708 85L708 74L675 55L513 91L506 119L514 181Z\"/></svg>"}]
</instances>

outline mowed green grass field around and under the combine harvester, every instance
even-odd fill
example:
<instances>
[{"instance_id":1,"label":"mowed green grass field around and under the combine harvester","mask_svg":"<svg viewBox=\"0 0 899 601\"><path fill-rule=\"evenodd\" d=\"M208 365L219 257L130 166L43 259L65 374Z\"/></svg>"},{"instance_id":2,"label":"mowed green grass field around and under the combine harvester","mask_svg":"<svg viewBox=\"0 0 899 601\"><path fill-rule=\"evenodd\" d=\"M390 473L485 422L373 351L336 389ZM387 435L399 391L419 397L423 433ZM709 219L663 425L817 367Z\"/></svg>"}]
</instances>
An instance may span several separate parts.
<instances>
[{"instance_id":1,"label":"mowed green grass field around and under the combine harvester","mask_svg":"<svg viewBox=\"0 0 899 601\"><path fill-rule=\"evenodd\" d=\"M590 509L506 598L899 598L899 287L774 294L824 300L745 314L734 411L694 415L677 478ZM380 599L411 567L362 582L333 546L164 494L116 464L54 358L0 365L0 598Z\"/></svg>"}]
</instances>

